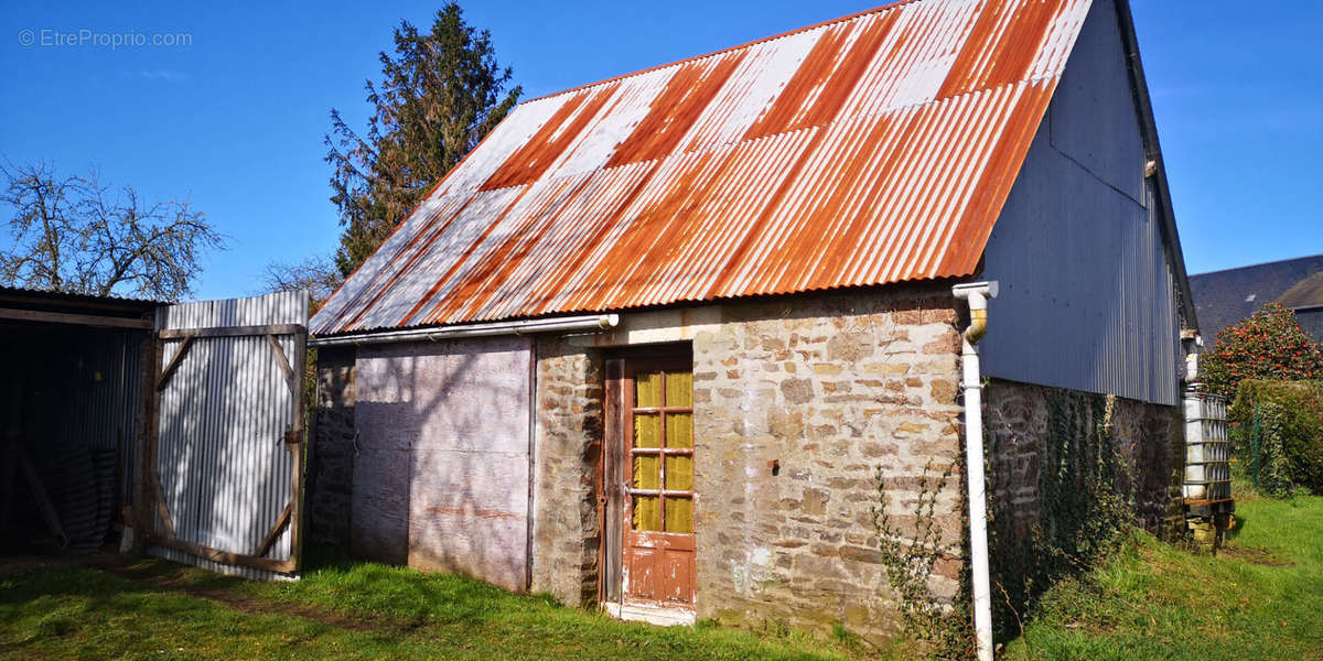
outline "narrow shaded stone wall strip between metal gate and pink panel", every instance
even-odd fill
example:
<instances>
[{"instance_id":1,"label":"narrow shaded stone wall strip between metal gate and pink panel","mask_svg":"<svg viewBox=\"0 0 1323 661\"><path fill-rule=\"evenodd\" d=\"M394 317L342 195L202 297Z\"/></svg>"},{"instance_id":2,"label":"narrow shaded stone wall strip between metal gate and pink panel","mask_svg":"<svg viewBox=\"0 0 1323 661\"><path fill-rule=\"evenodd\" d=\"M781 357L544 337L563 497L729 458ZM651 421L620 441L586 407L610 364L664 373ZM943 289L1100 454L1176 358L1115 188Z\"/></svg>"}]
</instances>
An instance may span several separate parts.
<instances>
[{"instance_id":1,"label":"narrow shaded stone wall strip between metal gate and pink panel","mask_svg":"<svg viewBox=\"0 0 1323 661\"><path fill-rule=\"evenodd\" d=\"M304 539L349 549L353 494L353 349L318 350L318 408L312 418L304 500Z\"/></svg>"}]
</instances>

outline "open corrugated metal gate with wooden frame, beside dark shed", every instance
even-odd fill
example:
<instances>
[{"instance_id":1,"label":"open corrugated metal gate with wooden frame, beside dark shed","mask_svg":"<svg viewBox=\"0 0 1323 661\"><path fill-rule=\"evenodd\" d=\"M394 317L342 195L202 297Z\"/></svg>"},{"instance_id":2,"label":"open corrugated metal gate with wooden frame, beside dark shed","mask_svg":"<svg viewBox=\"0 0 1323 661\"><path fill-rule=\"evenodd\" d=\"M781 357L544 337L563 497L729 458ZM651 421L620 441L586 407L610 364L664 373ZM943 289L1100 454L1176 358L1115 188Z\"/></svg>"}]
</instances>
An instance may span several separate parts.
<instances>
[{"instance_id":1,"label":"open corrugated metal gate with wooden frame, beside dark shed","mask_svg":"<svg viewBox=\"0 0 1323 661\"><path fill-rule=\"evenodd\" d=\"M307 319L304 292L157 312L153 555L249 578L299 570Z\"/></svg>"}]
</instances>

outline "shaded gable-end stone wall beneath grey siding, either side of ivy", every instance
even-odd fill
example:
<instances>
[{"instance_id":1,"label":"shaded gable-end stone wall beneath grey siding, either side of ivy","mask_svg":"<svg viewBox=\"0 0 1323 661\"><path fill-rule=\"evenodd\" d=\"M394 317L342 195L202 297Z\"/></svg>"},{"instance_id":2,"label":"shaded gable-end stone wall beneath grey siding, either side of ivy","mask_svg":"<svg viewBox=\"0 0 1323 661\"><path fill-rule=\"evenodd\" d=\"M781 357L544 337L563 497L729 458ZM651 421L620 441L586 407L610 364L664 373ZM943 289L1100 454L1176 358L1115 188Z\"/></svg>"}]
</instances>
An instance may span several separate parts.
<instances>
[{"instance_id":1,"label":"shaded gable-end stone wall beneath grey siding, either side of ivy","mask_svg":"<svg viewBox=\"0 0 1323 661\"><path fill-rule=\"evenodd\" d=\"M1040 513L1040 456L1048 444L1049 399L1066 393L1002 379L983 390L991 457L988 490L994 506L1009 512L1020 530L1036 522ZM1078 395L1097 398L1098 407L1106 411L1101 422L1110 424L1122 468L1117 485L1132 498L1135 522L1160 538L1179 534L1184 520L1180 408L1111 395Z\"/></svg>"}]
</instances>

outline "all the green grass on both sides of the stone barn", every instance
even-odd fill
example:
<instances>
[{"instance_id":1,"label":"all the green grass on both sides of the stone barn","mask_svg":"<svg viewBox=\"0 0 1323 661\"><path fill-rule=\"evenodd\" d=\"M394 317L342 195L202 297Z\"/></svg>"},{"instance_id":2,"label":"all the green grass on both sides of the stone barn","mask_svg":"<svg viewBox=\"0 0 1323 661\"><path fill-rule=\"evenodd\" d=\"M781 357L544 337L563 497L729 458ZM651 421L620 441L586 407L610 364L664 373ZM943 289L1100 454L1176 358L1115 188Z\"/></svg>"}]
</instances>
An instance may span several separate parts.
<instances>
[{"instance_id":1,"label":"all the green grass on both sides of the stone barn","mask_svg":"<svg viewBox=\"0 0 1323 661\"><path fill-rule=\"evenodd\" d=\"M1008 660L1323 660L1323 498L1241 500L1217 557L1135 534L1045 598ZM250 583L160 561L0 576L3 658L909 658L849 640L624 624L479 582L328 563Z\"/></svg>"}]
</instances>

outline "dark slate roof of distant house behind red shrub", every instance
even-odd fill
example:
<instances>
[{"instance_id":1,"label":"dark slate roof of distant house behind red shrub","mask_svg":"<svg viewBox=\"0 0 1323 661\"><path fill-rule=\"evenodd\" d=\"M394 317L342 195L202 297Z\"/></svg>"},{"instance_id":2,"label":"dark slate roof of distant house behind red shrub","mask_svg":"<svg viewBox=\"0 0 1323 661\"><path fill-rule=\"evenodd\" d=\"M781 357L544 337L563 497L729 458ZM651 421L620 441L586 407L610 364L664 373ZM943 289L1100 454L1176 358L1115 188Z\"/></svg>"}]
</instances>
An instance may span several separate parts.
<instances>
[{"instance_id":1,"label":"dark slate roof of distant house behind red shrub","mask_svg":"<svg viewBox=\"0 0 1323 661\"><path fill-rule=\"evenodd\" d=\"M1310 311L1323 307L1323 255L1189 276L1204 342L1269 303Z\"/></svg>"}]
</instances>

